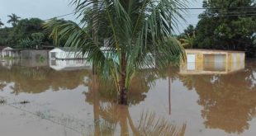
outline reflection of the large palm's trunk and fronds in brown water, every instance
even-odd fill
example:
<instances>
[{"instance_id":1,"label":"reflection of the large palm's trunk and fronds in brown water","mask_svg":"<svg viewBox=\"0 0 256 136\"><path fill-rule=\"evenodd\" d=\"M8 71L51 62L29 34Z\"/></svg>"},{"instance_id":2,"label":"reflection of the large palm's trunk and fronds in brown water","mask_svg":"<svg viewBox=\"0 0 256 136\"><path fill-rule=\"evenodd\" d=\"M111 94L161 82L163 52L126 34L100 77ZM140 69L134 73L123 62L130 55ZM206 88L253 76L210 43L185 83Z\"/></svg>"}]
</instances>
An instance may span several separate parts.
<instances>
[{"instance_id":1,"label":"reflection of the large palm's trunk and fronds in brown water","mask_svg":"<svg viewBox=\"0 0 256 136\"><path fill-rule=\"evenodd\" d=\"M144 78L144 80L142 80ZM149 84L154 83L157 75L140 73L133 81L130 89L130 106L145 100L145 92L149 91ZM143 81L143 82L139 82ZM98 84L97 76L92 75L89 91L84 92L86 101L93 106L94 127L89 135L184 135L186 124L177 126L170 124L166 119L159 119L156 114L143 112L139 122L132 120L129 106L116 103L116 93L111 91L110 83L107 86ZM140 112L140 111L139 111Z\"/></svg>"}]
</instances>

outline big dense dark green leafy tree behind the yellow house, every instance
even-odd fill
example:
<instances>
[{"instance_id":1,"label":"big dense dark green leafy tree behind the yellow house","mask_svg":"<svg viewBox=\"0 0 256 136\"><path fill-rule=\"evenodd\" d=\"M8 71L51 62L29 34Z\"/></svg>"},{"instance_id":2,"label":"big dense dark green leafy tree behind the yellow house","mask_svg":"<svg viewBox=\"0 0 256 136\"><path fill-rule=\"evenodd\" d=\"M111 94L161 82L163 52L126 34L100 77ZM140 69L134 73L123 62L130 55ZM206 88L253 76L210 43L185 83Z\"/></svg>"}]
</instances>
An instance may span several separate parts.
<instances>
[{"instance_id":1,"label":"big dense dark green leafy tree behind the yellow house","mask_svg":"<svg viewBox=\"0 0 256 136\"><path fill-rule=\"evenodd\" d=\"M197 48L243 50L254 55L254 0L205 0L203 7L206 11L196 27Z\"/></svg>"}]
</instances>

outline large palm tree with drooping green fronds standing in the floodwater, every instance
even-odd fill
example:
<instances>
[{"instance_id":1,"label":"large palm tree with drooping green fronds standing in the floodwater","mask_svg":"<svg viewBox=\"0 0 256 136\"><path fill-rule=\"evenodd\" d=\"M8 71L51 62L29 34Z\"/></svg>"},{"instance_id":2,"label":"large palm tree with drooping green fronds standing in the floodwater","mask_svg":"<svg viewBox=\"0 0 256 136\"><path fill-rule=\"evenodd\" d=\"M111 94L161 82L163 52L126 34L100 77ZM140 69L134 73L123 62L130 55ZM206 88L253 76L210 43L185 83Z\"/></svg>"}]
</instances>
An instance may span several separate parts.
<instances>
[{"instance_id":1,"label":"large palm tree with drooping green fronds standing in the floodwater","mask_svg":"<svg viewBox=\"0 0 256 136\"><path fill-rule=\"evenodd\" d=\"M114 80L120 104L126 104L130 81L140 68L155 65L155 60L164 67L173 57L184 58L183 47L172 36L178 17L183 18L180 12L187 7L183 0L72 0L71 4L82 18L84 12L92 12L92 26L97 25L101 38L108 39L104 51L103 42L95 38L99 35L93 37L81 25L85 22L52 20L45 28L55 41L66 40L65 46L88 54L103 79Z\"/></svg>"}]
</instances>

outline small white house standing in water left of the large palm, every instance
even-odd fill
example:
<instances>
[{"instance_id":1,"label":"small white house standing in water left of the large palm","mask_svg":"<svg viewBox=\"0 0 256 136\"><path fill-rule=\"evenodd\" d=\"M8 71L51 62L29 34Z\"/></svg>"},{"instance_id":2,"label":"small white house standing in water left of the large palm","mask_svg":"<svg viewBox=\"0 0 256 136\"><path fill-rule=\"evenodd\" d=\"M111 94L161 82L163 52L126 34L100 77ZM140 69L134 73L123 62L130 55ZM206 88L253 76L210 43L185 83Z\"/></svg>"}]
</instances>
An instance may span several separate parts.
<instances>
[{"instance_id":1,"label":"small white house standing in water left of the large palm","mask_svg":"<svg viewBox=\"0 0 256 136\"><path fill-rule=\"evenodd\" d=\"M50 59L86 59L87 55L82 54L78 49L69 47L55 48L50 50Z\"/></svg>"}]
</instances>

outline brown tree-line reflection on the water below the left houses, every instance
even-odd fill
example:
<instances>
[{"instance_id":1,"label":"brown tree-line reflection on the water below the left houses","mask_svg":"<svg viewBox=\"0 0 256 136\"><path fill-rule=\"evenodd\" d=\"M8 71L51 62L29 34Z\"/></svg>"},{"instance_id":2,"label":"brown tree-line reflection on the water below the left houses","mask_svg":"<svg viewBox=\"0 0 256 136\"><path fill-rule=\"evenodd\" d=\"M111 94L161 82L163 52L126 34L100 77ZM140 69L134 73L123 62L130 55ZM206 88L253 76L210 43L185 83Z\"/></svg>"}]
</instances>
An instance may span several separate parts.
<instances>
[{"instance_id":1,"label":"brown tree-line reflection on the water below the left houses","mask_svg":"<svg viewBox=\"0 0 256 136\"><path fill-rule=\"evenodd\" d=\"M86 70L58 72L49 67L0 66L0 69L0 89L13 83L11 89L15 94L40 93L49 89L72 90L81 84L87 84L84 77L88 77L89 73Z\"/></svg>"}]
</instances>

